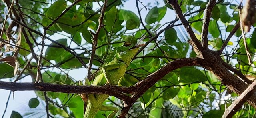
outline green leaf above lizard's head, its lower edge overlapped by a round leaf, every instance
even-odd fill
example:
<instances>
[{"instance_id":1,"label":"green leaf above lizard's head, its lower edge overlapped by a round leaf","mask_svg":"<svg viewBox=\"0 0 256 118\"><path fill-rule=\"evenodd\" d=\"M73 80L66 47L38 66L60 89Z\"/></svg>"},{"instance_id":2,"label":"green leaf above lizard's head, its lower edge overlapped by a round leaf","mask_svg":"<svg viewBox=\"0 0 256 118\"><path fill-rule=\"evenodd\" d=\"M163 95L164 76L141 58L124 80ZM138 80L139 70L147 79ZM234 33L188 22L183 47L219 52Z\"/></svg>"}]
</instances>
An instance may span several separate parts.
<instances>
[{"instance_id":1,"label":"green leaf above lizard's head, its lower edge overlapped by a round leaf","mask_svg":"<svg viewBox=\"0 0 256 118\"><path fill-rule=\"evenodd\" d=\"M138 26L138 27L140 26L140 18L136 14L134 14L134 12L123 10L122 16L123 16L123 18L124 18L124 20L126 22L129 19L133 19L134 20L134 24L136 24L136 26ZM129 22L131 22L131 21L129 21Z\"/></svg>"}]
</instances>

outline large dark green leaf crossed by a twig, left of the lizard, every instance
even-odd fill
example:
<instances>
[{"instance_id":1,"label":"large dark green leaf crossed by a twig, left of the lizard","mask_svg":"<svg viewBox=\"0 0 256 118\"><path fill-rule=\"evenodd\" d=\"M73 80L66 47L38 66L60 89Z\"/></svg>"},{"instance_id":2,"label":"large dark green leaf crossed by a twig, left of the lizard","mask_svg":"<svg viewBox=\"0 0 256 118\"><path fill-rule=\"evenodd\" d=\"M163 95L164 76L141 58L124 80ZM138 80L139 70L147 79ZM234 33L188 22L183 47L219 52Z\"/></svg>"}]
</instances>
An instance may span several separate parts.
<instances>
[{"instance_id":1,"label":"large dark green leaf crossed by a twig, left of the lizard","mask_svg":"<svg viewBox=\"0 0 256 118\"><path fill-rule=\"evenodd\" d=\"M64 46L67 46L67 39L59 39L59 40L56 40L56 42ZM52 42L50 46L46 49L46 52L45 52L46 59L55 60L57 58L60 58L60 56L62 56L62 54L64 54L64 52L66 51L61 47L56 48L54 46L58 46L58 45Z\"/></svg>"}]
</instances>

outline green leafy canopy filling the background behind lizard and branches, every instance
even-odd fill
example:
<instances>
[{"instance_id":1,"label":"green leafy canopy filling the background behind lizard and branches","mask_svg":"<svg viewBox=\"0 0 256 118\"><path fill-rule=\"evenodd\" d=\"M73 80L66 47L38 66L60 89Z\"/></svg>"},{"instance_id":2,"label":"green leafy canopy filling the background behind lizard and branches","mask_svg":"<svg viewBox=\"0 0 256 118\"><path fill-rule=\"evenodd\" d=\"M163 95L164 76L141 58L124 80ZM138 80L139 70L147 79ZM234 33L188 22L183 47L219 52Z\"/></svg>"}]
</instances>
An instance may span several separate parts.
<instances>
[{"instance_id":1,"label":"green leafy canopy filling the background behind lizard and branches","mask_svg":"<svg viewBox=\"0 0 256 118\"><path fill-rule=\"evenodd\" d=\"M138 84L173 60L179 61L182 58L198 56L195 48L188 43L191 36L185 31L187 27L184 28L182 21L180 22L175 16L175 7L166 3L165 0L150 2L134 0L133 5L136 8L130 11L124 8L129 1L108 0L102 22L104 25L99 31L92 61L92 74L104 62L111 60L111 52L116 47L125 41L136 43L137 39L144 35L146 35L144 40L146 45L140 49L127 68L121 82L124 87ZM78 3L72 4L74 2L76 1L14 0L13 6L10 0L0 2L0 26L2 26L0 30L4 32L0 36L1 81L17 82L30 76L34 82L38 71L38 60L42 58L40 68L44 83L79 85L78 81L83 78L72 78L68 72L78 68L88 68L93 50L92 38L99 26L98 19L104 1L79 0ZM181 8L182 14L200 41L207 3L208 1L201 0L178 0L180 5L178 7ZM131 7L134 8L134 6ZM206 30L208 33L206 33L206 39L208 39L209 49L218 51L222 49L228 35L234 35L227 42L226 48L223 48L220 58L242 74L254 76L255 68L248 64L242 32L240 28L236 28L236 24L239 23L238 6L237 3L225 0L216 2L212 8L208 30ZM8 15L6 20L10 7L11 15L10 17ZM59 16L61 17L58 18ZM173 20L167 21L166 18L169 17ZM49 25L50 27L45 30ZM256 49L256 31L253 31L254 28L251 30L246 34L246 43L253 59ZM42 36L45 38L45 45L42 42ZM43 56L40 57L42 45L44 50ZM162 79L160 78L149 86L149 89L142 92L142 96L136 100L126 116L133 118L221 117L225 107L236 99L237 94L227 92L228 88L223 85L227 85L225 81L221 83L221 77L216 76L218 74L212 73L212 70L205 66L194 64L181 67L162 75L164 76ZM229 70L232 71L230 68ZM79 74L82 77L86 76L84 75L86 72ZM40 102L47 101L46 107L52 117L82 118L83 102L78 94L35 92L38 97L28 100L28 106L32 110L38 107ZM104 104L119 107L121 111L124 102L116 97L111 96ZM29 117L31 114L38 115L36 112L21 114L23 117ZM109 112L98 112L97 118L103 118L108 114ZM255 114L255 109L246 103L234 117L253 117ZM22 118L22 116L13 111L11 118Z\"/></svg>"}]
</instances>

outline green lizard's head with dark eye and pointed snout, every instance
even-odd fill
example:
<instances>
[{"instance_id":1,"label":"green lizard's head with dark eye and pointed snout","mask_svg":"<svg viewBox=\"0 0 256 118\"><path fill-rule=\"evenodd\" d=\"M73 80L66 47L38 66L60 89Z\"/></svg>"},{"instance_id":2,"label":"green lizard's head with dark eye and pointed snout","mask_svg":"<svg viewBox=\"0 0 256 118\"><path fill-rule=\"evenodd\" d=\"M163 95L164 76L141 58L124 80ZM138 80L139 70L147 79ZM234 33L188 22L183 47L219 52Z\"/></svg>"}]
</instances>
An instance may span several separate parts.
<instances>
[{"instance_id":1,"label":"green lizard's head with dark eye and pointed snout","mask_svg":"<svg viewBox=\"0 0 256 118\"><path fill-rule=\"evenodd\" d=\"M123 46L117 48L118 60L120 62L125 63L126 67L128 67L130 65L132 58L138 52L139 47L144 46L144 44L140 44L140 42L142 42L142 40L144 38L145 38L145 36L140 38L140 40L136 44L132 44L130 42L124 42Z\"/></svg>"}]
</instances>

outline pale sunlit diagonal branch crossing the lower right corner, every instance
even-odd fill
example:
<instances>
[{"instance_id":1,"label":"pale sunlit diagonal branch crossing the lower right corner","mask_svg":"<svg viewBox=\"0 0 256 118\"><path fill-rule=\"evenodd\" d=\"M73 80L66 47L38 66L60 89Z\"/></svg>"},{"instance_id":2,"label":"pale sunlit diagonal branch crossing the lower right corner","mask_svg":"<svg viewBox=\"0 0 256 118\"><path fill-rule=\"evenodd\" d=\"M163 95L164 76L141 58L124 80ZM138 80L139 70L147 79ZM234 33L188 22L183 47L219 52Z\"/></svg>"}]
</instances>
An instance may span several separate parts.
<instances>
[{"instance_id":1,"label":"pale sunlit diagonal branch crossing the lower right corner","mask_svg":"<svg viewBox=\"0 0 256 118\"><path fill-rule=\"evenodd\" d=\"M231 118L243 106L244 102L255 92L256 81L252 82L246 90L225 110L222 118Z\"/></svg>"}]
</instances>

